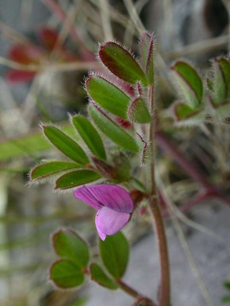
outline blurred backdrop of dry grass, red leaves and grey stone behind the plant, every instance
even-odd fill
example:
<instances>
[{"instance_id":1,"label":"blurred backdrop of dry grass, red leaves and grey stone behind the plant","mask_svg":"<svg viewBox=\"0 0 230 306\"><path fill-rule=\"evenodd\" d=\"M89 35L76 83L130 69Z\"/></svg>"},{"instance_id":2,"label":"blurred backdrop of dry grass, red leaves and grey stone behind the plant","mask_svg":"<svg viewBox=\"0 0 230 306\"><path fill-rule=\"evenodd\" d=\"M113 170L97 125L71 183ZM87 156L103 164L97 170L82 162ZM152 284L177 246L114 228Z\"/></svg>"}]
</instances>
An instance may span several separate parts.
<instances>
[{"instance_id":1,"label":"blurred backdrop of dry grass, red leaves and grey stone behind the plant","mask_svg":"<svg viewBox=\"0 0 230 306\"><path fill-rule=\"evenodd\" d=\"M230 196L229 126L209 126L209 137L205 127L178 129L165 119L177 98L170 65L183 57L201 75L210 73L210 59L229 52L229 13L228 0L0 0L0 305L132 304L123 293L95 284L59 291L48 282L55 259L50 234L59 227L79 231L97 253L94 211L72 193L52 192L52 184L27 184L32 166L57 156L43 139L40 122L66 125L68 113L86 111L84 77L90 69L102 71L95 55L98 42L116 39L137 54L140 24L154 32L161 55L156 63L160 129ZM198 183L161 150L158 168L178 207L199 191ZM227 294L226 202L210 197L186 210L180 220L186 241L167 219L173 305L221 305ZM154 296L158 255L143 207L125 229L132 244L126 281ZM183 251L186 242L191 253Z\"/></svg>"}]
</instances>

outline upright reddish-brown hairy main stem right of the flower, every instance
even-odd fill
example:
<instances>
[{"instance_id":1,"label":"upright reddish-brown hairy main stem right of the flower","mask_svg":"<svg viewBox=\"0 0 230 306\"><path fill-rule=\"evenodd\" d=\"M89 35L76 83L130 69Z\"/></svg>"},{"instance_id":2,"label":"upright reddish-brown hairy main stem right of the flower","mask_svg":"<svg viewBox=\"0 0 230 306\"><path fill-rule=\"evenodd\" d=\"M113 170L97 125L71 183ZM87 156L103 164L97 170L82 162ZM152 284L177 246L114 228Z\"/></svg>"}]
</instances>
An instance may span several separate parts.
<instances>
[{"instance_id":1,"label":"upright reddish-brown hairy main stem right of the flower","mask_svg":"<svg viewBox=\"0 0 230 306\"><path fill-rule=\"evenodd\" d=\"M148 99L152 112L152 122L149 126L149 142L151 150L151 163L150 163L150 180L151 180L151 196L149 198L149 208L151 215L154 219L154 227L157 235L157 244L159 247L159 259L161 267L161 285L159 306L170 305L170 270L169 259L167 250L167 239L164 230L163 218L159 207L159 198L157 196L157 189L155 184L155 129L156 129L156 114L153 97L153 86L148 87Z\"/></svg>"}]
</instances>

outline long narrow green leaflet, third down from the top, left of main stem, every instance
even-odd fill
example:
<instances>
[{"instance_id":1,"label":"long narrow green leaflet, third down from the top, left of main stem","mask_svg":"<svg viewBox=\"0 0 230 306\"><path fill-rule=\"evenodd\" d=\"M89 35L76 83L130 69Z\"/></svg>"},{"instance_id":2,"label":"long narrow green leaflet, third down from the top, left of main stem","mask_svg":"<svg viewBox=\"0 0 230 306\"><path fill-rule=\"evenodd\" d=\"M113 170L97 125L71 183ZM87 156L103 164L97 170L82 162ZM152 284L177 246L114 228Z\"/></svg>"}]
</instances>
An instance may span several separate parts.
<instances>
[{"instance_id":1,"label":"long narrow green leaflet, third down from the top, left of main stem","mask_svg":"<svg viewBox=\"0 0 230 306\"><path fill-rule=\"evenodd\" d=\"M94 123L105 136L128 151L138 152L138 146L132 136L113 122L102 110L95 106L90 106L89 112Z\"/></svg>"}]
</instances>

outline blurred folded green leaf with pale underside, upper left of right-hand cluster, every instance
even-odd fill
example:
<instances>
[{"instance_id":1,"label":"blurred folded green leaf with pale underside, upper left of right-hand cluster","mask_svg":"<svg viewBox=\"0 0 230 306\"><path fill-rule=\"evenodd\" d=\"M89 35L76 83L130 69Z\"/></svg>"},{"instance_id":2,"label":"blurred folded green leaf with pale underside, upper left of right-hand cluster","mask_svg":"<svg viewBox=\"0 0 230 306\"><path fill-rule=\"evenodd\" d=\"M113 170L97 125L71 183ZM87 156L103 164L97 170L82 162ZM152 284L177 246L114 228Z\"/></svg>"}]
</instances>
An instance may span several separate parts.
<instances>
[{"instance_id":1,"label":"blurred folded green leaf with pale underside, upper left of right-hand cluster","mask_svg":"<svg viewBox=\"0 0 230 306\"><path fill-rule=\"evenodd\" d=\"M171 69L191 108L201 105L203 84L196 70L186 62L176 62Z\"/></svg>"}]
</instances>

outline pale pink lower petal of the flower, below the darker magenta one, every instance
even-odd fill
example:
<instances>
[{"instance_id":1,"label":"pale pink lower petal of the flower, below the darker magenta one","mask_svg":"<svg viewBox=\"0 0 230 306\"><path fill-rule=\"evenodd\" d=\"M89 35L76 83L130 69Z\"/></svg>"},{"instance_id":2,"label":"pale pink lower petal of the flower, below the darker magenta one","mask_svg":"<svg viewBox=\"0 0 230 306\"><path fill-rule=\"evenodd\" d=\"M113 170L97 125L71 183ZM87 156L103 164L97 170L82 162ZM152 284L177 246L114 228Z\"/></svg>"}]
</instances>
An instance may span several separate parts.
<instances>
[{"instance_id":1,"label":"pale pink lower petal of the flower, below the darker magenta one","mask_svg":"<svg viewBox=\"0 0 230 306\"><path fill-rule=\"evenodd\" d=\"M97 212L95 223L99 236L105 240L105 235L113 235L121 230L130 218L127 212L115 211L109 207L102 207Z\"/></svg>"}]
</instances>

